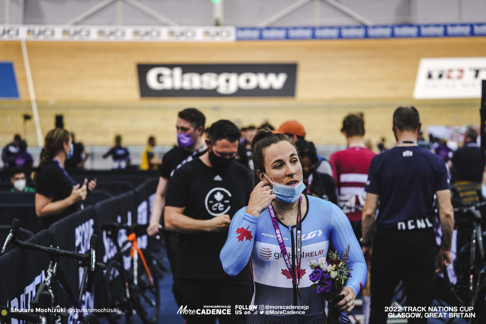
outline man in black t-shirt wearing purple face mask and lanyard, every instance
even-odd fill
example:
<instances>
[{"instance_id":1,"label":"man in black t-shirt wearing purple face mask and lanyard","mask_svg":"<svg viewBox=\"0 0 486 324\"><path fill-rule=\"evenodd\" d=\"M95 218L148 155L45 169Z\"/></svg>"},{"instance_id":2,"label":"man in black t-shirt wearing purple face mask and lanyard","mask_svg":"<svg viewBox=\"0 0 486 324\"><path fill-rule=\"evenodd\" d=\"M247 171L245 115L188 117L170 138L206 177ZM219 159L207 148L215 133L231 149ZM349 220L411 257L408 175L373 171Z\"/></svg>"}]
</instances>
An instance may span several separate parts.
<instances>
[{"instance_id":1,"label":"man in black t-shirt wearing purple face mask and lanyard","mask_svg":"<svg viewBox=\"0 0 486 324\"><path fill-rule=\"evenodd\" d=\"M158 180L157 191L152 207L152 215L150 217L149 227L147 233L150 236L156 235L160 225L162 210L165 205L165 193L169 180L174 171L180 168L185 163L199 157L206 152L206 143L203 142L201 136L204 132L206 117L203 113L195 108L187 108L179 112L175 127L177 128L177 144L172 150L164 154L162 164L160 165L160 178ZM165 248L167 251L167 258L169 259L172 273L176 273L176 256L178 250L179 234L175 232L165 231ZM177 285L177 278L174 276L174 285L172 289L177 305L181 305L181 294Z\"/></svg>"}]
</instances>

